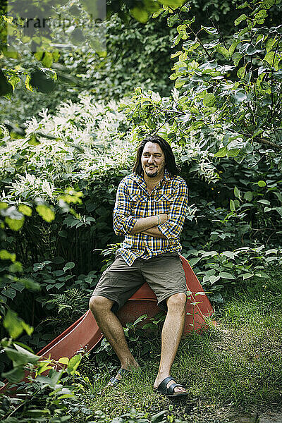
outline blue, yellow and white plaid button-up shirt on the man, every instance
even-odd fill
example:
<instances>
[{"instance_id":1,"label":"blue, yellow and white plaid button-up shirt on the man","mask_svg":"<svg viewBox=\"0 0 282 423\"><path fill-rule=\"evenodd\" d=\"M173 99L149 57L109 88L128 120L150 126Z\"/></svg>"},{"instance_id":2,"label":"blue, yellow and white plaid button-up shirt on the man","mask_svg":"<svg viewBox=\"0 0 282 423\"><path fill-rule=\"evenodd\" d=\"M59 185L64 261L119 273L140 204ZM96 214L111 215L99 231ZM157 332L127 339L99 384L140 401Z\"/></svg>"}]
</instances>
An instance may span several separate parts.
<instances>
[{"instance_id":1,"label":"blue, yellow and white plaid button-up shirt on the man","mask_svg":"<svg viewBox=\"0 0 282 423\"><path fill-rule=\"evenodd\" d=\"M119 250L125 262L131 266L137 257L149 259L164 252L180 252L179 236L187 207L188 188L180 176L170 176L165 171L150 195L142 176L135 173L125 176L118 185L114 207L114 231L116 235L125 235ZM130 235L137 219L161 213L168 214L168 220L158 226L166 239L145 233Z\"/></svg>"}]
</instances>

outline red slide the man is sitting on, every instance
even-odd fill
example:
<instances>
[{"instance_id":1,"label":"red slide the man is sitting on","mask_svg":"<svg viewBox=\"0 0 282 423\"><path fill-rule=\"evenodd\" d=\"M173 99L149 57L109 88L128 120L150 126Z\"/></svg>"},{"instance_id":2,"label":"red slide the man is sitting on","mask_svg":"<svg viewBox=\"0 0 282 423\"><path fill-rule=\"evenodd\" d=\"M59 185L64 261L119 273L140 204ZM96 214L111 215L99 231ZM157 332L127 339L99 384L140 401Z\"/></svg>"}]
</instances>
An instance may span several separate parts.
<instances>
[{"instance_id":1,"label":"red slide the man is sitting on","mask_svg":"<svg viewBox=\"0 0 282 423\"><path fill-rule=\"evenodd\" d=\"M180 258L185 271L186 285L191 293L186 305L186 319L183 331L183 335L186 335L190 331L199 332L207 329L208 325L205 318L212 316L214 310L190 264L183 256L180 256ZM157 306L156 295L145 283L119 310L118 318L125 326L126 323L135 321L142 314L154 317L160 311L161 309ZM216 324L216 322L213 321L213 324ZM88 310L66 331L63 331L61 335L42 348L37 355L42 357L50 356L53 360L59 360L61 357L71 358L78 350L92 350L101 341L102 337L103 334L92 312ZM5 388L6 386L0 388L0 392L4 391Z\"/></svg>"}]
</instances>

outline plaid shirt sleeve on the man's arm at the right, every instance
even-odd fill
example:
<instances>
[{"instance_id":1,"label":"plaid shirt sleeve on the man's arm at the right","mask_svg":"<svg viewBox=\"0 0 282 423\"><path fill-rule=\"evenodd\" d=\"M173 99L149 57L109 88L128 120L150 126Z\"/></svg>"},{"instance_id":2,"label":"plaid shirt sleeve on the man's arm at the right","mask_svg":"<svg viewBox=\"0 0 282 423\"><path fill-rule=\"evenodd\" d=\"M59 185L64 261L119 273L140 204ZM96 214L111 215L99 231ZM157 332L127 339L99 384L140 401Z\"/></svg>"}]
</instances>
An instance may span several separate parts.
<instances>
[{"instance_id":1,"label":"plaid shirt sleeve on the man's arm at the right","mask_svg":"<svg viewBox=\"0 0 282 423\"><path fill-rule=\"evenodd\" d=\"M159 231L169 240L179 238L183 229L188 208L188 188L185 181L181 182L173 192L173 202L166 223L158 226Z\"/></svg>"}]
</instances>

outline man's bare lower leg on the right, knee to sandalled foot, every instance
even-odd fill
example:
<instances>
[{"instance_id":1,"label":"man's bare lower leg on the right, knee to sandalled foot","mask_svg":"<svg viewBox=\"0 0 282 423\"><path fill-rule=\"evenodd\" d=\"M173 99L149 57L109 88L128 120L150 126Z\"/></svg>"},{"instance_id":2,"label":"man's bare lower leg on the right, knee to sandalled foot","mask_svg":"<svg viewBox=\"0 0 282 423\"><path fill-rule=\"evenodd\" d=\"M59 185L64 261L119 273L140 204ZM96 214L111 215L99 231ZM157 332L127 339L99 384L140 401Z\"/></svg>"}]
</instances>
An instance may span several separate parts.
<instances>
[{"instance_id":1,"label":"man's bare lower leg on the right, knee to sandalled foot","mask_svg":"<svg viewBox=\"0 0 282 423\"><path fill-rule=\"evenodd\" d=\"M161 381L171 375L171 366L176 357L185 323L186 299L187 297L184 293L178 293L171 295L166 300L168 312L161 333L161 361L157 378L154 381L154 388L157 388ZM167 387L173 383L174 381L168 382ZM185 389L176 387L174 391L185 392Z\"/></svg>"}]
</instances>

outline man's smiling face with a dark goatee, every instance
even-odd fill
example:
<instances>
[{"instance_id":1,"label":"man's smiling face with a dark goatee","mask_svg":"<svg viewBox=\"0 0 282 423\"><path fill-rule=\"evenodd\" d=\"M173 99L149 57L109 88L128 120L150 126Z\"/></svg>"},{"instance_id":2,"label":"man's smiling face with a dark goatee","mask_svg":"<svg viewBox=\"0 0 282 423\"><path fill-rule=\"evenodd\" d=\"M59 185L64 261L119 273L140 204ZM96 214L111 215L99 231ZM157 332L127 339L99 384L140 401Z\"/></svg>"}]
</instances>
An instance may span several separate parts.
<instances>
[{"instance_id":1,"label":"man's smiling face with a dark goatee","mask_svg":"<svg viewBox=\"0 0 282 423\"><path fill-rule=\"evenodd\" d=\"M148 141L141 156L142 169L148 178L164 176L164 152L159 144Z\"/></svg>"}]
</instances>

